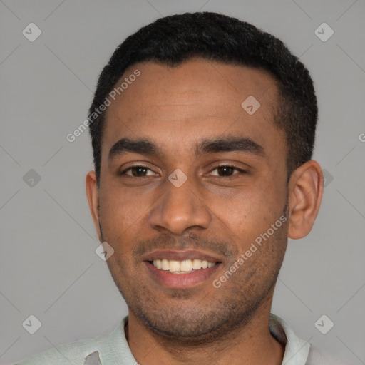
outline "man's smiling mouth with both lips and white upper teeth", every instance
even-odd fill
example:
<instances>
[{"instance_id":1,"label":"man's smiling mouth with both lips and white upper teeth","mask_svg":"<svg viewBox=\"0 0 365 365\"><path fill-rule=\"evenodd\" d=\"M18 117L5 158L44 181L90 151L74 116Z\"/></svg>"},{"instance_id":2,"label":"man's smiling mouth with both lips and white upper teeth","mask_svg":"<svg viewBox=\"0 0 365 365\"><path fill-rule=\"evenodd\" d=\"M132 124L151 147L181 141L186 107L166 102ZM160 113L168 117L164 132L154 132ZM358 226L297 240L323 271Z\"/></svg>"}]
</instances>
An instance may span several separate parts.
<instances>
[{"instance_id":1,"label":"man's smiling mouth with both lips and white upper teeth","mask_svg":"<svg viewBox=\"0 0 365 365\"><path fill-rule=\"evenodd\" d=\"M198 251L155 251L144 259L150 277L163 287L192 287L209 279L222 261Z\"/></svg>"}]
</instances>

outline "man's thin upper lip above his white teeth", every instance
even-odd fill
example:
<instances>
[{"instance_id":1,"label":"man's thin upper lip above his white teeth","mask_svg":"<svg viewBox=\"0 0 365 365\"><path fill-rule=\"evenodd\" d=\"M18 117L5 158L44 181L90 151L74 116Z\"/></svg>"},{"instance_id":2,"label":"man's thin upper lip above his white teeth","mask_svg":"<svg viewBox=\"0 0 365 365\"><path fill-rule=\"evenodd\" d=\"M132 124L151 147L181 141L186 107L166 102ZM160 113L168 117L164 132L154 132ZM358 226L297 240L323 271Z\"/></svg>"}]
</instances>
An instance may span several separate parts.
<instances>
[{"instance_id":1,"label":"man's thin upper lip above his white teeth","mask_svg":"<svg viewBox=\"0 0 365 365\"><path fill-rule=\"evenodd\" d=\"M222 259L206 252L197 250L155 250L143 255L143 261L153 261L155 259L169 259L175 261L183 261L185 259L201 259L207 262L222 262Z\"/></svg>"}]
</instances>

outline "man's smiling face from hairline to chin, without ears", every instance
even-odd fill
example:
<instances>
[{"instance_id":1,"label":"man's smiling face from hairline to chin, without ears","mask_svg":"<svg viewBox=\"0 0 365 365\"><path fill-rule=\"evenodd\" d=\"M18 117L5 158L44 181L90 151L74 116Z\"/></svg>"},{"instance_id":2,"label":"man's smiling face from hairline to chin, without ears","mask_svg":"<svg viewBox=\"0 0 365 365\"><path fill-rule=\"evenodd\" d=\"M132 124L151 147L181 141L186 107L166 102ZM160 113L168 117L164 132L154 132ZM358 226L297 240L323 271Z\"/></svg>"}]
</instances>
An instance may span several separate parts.
<instances>
[{"instance_id":1,"label":"man's smiling face from hairline to chin, without ears","mask_svg":"<svg viewBox=\"0 0 365 365\"><path fill-rule=\"evenodd\" d=\"M115 250L108 267L130 313L153 331L232 331L270 306L287 245L276 84L264 71L199 59L139 63L123 78L135 69L140 76L112 101L103 131L101 239ZM256 111L252 98L241 106L249 96ZM125 148L123 138L149 143Z\"/></svg>"}]
</instances>

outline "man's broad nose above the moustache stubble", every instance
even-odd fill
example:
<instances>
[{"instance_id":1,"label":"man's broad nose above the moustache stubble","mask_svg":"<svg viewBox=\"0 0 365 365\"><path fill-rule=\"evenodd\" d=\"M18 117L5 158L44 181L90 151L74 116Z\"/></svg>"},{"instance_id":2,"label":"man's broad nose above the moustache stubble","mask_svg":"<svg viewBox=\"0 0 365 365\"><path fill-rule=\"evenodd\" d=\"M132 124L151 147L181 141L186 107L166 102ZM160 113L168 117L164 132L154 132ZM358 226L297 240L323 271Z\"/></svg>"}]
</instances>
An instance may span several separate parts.
<instances>
[{"instance_id":1,"label":"man's broad nose above the moustache stubble","mask_svg":"<svg viewBox=\"0 0 365 365\"><path fill-rule=\"evenodd\" d=\"M150 211L150 227L160 232L168 230L174 235L184 235L193 228L204 230L209 227L212 215L190 179L180 187L166 180L163 191Z\"/></svg>"}]
</instances>

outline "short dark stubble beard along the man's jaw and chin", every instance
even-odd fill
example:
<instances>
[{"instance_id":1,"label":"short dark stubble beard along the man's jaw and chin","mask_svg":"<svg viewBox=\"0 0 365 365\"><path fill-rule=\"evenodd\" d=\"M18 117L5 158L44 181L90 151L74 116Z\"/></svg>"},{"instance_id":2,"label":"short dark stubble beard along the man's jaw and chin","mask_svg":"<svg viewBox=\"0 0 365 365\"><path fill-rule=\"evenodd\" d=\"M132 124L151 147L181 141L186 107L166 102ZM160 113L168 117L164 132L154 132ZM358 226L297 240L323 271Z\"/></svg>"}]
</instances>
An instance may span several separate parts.
<instances>
[{"instance_id":1,"label":"short dark stubble beard along the man's jaw and chin","mask_svg":"<svg viewBox=\"0 0 365 365\"><path fill-rule=\"evenodd\" d=\"M285 217L287 211L285 205ZM123 279L128 272L123 255L115 252L118 257L109 259L108 267L129 311L151 334L166 342L178 341L181 346L201 346L234 336L249 324L260 308L271 307L286 247L287 222L222 287L214 289L216 299L209 303L204 297L195 301L198 294L194 290L171 289L169 299L174 299L174 305L166 307L158 298L153 299L152 289L143 282L133 280L133 277ZM234 262L237 262L237 255L231 257L225 270Z\"/></svg>"}]
</instances>

